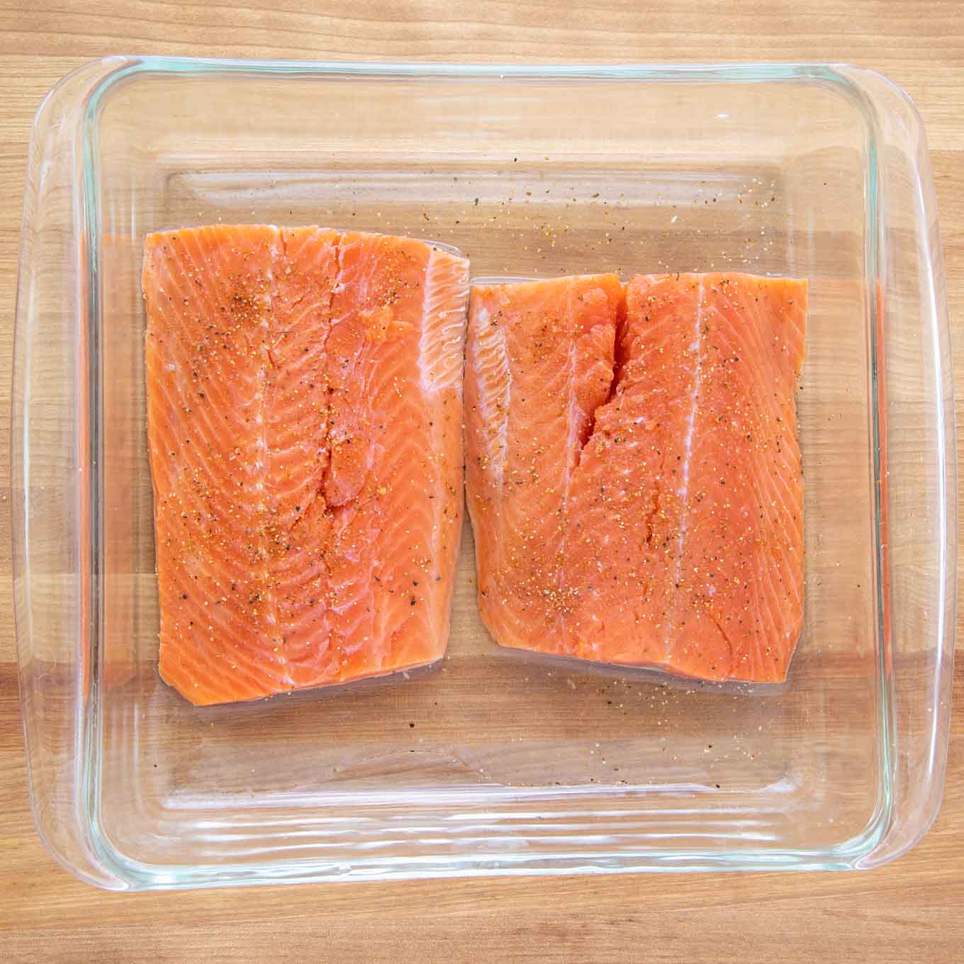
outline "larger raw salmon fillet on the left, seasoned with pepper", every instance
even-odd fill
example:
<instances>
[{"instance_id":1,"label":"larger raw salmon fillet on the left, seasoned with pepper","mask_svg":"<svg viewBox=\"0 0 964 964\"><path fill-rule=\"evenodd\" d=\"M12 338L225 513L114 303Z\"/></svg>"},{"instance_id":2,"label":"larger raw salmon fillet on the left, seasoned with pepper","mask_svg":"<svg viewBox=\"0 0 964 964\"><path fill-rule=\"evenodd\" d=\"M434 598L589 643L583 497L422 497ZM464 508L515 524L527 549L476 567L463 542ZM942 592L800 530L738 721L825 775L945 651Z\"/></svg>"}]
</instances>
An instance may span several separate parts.
<instances>
[{"instance_id":1,"label":"larger raw salmon fillet on the left, seasoned with pepper","mask_svg":"<svg viewBox=\"0 0 964 964\"><path fill-rule=\"evenodd\" d=\"M324 228L147 236L161 677L196 705L445 650L468 262Z\"/></svg>"}]
</instances>

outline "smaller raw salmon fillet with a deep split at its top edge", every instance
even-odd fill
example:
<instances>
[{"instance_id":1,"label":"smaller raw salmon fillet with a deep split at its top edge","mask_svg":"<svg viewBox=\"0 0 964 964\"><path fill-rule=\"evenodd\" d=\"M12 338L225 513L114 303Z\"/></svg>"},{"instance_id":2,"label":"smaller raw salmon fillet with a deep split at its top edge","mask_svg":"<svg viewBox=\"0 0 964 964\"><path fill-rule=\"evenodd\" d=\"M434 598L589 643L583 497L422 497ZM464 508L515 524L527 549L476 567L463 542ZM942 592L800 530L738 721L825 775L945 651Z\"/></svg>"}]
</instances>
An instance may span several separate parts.
<instances>
[{"instance_id":1,"label":"smaller raw salmon fillet with a deep split at its top edge","mask_svg":"<svg viewBox=\"0 0 964 964\"><path fill-rule=\"evenodd\" d=\"M472 289L469 515L503 646L786 678L803 624L805 281Z\"/></svg>"}]
</instances>

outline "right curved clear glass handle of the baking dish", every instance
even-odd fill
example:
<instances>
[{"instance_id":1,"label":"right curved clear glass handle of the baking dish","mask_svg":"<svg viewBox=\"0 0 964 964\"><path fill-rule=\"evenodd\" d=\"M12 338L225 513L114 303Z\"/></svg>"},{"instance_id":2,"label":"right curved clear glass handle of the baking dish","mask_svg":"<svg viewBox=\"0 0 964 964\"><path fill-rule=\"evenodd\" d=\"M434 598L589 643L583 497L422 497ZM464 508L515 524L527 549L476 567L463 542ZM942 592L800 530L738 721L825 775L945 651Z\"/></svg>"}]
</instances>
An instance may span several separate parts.
<instances>
[{"instance_id":1,"label":"right curved clear glass handle of the baking dish","mask_svg":"<svg viewBox=\"0 0 964 964\"><path fill-rule=\"evenodd\" d=\"M877 610L885 739L875 867L924 836L944 790L956 591L956 457L944 257L924 124L881 74L840 67L872 118L870 326L876 419ZM872 185L872 179L871 179Z\"/></svg>"}]
</instances>

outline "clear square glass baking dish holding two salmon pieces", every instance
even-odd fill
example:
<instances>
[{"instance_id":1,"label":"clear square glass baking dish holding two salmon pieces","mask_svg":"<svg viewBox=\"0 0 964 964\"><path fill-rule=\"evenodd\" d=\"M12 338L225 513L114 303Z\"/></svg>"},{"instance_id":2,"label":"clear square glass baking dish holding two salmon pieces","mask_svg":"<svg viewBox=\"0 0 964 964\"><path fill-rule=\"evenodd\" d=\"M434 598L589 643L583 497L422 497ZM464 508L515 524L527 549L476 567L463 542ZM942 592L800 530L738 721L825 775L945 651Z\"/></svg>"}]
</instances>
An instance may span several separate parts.
<instances>
[{"instance_id":1,"label":"clear square glass baking dish holding two salmon pieces","mask_svg":"<svg viewBox=\"0 0 964 964\"><path fill-rule=\"evenodd\" d=\"M469 527L434 671L189 706L157 675L144 235L320 224L475 277L810 281L806 621L785 685L497 648ZM34 816L104 887L870 868L940 803L954 627L944 269L921 121L845 66L112 57L37 117L13 397Z\"/></svg>"}]
</instances>

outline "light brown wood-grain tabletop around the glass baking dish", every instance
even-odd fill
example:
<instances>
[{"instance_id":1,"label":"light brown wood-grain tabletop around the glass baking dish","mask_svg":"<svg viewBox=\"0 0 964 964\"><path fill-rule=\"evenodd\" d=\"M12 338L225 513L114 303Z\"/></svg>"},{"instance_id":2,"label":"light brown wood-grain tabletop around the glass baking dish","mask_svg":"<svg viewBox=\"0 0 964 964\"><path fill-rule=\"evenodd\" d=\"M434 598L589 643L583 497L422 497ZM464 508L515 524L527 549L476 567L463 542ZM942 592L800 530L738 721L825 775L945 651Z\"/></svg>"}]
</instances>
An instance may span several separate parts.
<instances>
[{"instance_id":1,"label":"light brown wood-grain tabletop around the glass baking dish","mask_svg":"<svg viewBox=\"0 0 964 964\"><path fill-rule=\"evenodd\" d=\"M0 0L0 960L715 962L964 959L964 659L944 807L924 842L868 873L424 881L127 896L57 867L31 821L10 558L13 296L24 159L40 97L107 53L466 61L850 61L924 116L964 399L964 18L959 0ZM227 27L226 21L231 21ZM149 40L151 37L166 40ZM964 474L962 474L964 478ZM964 543L962 543L964 545ZM964 618L964 607L961 607ZM960 634L964 641L964 633Z\"/></svg>"}]
</instances>

